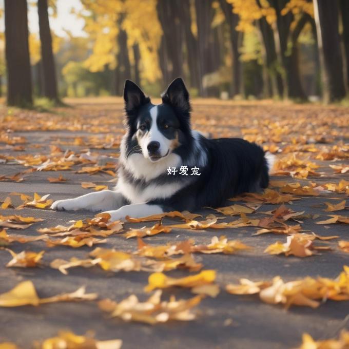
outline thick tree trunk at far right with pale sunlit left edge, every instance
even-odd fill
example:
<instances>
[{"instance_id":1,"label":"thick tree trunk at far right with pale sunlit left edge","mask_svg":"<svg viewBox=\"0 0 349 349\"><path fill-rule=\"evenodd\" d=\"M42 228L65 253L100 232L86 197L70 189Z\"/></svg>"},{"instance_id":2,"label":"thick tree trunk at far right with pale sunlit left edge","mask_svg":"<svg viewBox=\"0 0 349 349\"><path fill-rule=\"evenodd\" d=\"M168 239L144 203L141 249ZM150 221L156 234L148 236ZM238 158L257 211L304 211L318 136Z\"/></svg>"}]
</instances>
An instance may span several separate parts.
<instances>
[{"instance_id":1,"label":"thick tree trunk at far right with pale sunlit left edge","mask_svg":"<svg viewBox=\"0 0 349 349\"><path fill-rule=\"evenodd\" d=\"M314 14L318 37L324 101L334 102L345 96L343 63L338 32L337 1L314 0Z\"/></svg>"}]
</instances>

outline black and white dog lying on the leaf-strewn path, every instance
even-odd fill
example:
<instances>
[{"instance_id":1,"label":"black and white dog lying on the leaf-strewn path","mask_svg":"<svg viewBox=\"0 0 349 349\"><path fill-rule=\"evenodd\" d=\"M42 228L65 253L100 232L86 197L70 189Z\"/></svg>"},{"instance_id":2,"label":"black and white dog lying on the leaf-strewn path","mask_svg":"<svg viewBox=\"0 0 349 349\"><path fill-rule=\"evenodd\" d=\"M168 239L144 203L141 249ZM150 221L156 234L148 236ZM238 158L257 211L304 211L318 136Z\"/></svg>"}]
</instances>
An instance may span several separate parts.
<instances>
[{"instance_id":1,"label":"black and white dog lying on the leaf-strewn path","mask_svg":"<svg viewBox=\"0 0 349 349\"><path fill-rule=\"evenodd\" d=\"M219 207L228 198L268 186L272 154L242 139L206 139L190 129L189 94L182 79L168 86L159 105L127 80L124 100L127 131L115 189L55 201L51 208L102 210L112 220L123 220Z\"/></svg>"}]
</instances>

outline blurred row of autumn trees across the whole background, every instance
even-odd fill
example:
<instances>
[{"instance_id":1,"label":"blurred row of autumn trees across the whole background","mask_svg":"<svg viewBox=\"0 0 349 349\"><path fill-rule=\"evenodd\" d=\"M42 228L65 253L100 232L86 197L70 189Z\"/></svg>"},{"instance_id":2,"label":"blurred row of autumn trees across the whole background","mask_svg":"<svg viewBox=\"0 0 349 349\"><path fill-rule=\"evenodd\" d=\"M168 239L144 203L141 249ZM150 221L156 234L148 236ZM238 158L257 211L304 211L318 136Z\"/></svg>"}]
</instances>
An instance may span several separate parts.
<instances>
[{"instance_id":1,"label":"blurred row of autumn trees across the whole background","mask_svg":"<svg viewBox=\"0 0 349 349\"><path fill-rule=\"evenodd\" d=\"M5 0L8 104L121 95L125 79L157 95L177 76L204 98L333 102L349 87L347 0L79 0L84 35L58 36L49 20L62 1Z\"/></svg>"}]
</instances>

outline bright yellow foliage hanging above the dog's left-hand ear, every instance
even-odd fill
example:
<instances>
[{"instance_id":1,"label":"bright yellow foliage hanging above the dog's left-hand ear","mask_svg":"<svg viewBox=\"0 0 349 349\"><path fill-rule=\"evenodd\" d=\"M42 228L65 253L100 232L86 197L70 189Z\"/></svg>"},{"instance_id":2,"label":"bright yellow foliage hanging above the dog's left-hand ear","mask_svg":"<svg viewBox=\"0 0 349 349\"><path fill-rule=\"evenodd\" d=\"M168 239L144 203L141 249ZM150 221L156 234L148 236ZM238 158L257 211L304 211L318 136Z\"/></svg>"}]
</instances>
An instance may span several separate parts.
<instances>
[{"instance_id":1,"label":"bright yellow foliage hanging above the dog's left-hand ear","mask_svg":"<svg viewBox=\"0 0 349 349\"><path fill-rule=\"evenodd\" d=\"M133 61L131 47L139 44L141 53L141 76L149 82L161 77L158 61L158 48L161 39L161 26L156 11L156 0L135 2L132 0L83 0L86 10L91 14L84 16L85 31L94 42L92 54L85 61L90 71L101 71L107 65L110 69L118 65L119 49L129 50ZM127 47L119 48L117 38L119 23L127 33ZM145 69L146 68L146 69Z\"/></svg>"}]
</instances>

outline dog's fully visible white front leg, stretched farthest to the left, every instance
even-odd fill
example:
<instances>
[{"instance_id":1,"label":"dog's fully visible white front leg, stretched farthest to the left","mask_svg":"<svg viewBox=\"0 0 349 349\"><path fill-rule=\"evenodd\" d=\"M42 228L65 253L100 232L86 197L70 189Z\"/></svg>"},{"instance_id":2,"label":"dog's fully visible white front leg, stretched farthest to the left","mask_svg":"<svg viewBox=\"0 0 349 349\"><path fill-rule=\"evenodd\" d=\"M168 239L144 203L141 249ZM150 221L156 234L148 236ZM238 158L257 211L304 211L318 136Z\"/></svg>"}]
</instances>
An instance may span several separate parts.
<instances>
[{"instance_id":1,"label":"dog's fully visible white front leg, stretched farthest to the left","mask_svg":"<svg viewBox=\"0 0 349 349\"><path fill-rule=\"evenodd\" d=\"M102 190L90 192L86 195L74 199L58 200L52 205L52 209L76 211L86 209L89 211L104 211L106 209L116 209L125 203L125 199L120 192L112 190Z\"/></svg>"}]
</instances>

